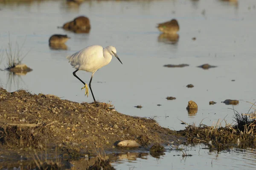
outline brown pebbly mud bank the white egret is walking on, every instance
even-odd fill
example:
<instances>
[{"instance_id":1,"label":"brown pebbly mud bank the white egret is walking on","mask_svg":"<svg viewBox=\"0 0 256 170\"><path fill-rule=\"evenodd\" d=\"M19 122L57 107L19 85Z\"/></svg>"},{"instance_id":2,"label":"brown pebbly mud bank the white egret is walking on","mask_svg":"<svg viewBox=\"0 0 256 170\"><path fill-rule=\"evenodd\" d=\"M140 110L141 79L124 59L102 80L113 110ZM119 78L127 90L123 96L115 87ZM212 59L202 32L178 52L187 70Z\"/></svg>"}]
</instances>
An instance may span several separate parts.
<instances>
[{"instance_id":1,"label":"brown pebbly mud bank the white egret is walking on","mask_svg":"<svg viewBox=\"0 0 256 170\"><path fill-rule=\"evenodd\" d=\"M54 95L7 92L0 88L0 145L12 150L45 147L93 152L113 150L117 141L135 140L141 146L177 139L175 131L156 121L124 115L112 105L76 103Z\"/></svg>"}]
</instances>

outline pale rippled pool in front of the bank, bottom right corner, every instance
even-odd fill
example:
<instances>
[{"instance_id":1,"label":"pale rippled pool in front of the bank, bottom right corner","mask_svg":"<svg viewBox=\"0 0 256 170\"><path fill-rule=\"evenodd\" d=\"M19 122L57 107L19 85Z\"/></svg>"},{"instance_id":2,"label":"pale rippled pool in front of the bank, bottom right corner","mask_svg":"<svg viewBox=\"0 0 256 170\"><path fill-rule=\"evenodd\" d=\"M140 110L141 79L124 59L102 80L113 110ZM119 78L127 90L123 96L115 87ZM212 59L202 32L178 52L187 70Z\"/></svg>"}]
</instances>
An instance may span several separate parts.
<instances>
[{"instance_id":1,"label":"pale rippled pool in front of the bank, bottom right corner","mask_svg":"<svg viewBox=\"0 0 256 170\"><path fill-rule=\"evenodd\" d=\"M112 163L117 170L248 170L256 166L256 150L229 150L225 152L209 152L204 146L184 147L186 154L177 150L167 151L164 156L154 158L143 156L136 160L123 159ZM185 151L183 151L185 152ZM121 157L121 156L120 156ZM122 158L122 157L121 157ZM200 160L200 161L198 161Z\"/></svg>"}]
</instances>

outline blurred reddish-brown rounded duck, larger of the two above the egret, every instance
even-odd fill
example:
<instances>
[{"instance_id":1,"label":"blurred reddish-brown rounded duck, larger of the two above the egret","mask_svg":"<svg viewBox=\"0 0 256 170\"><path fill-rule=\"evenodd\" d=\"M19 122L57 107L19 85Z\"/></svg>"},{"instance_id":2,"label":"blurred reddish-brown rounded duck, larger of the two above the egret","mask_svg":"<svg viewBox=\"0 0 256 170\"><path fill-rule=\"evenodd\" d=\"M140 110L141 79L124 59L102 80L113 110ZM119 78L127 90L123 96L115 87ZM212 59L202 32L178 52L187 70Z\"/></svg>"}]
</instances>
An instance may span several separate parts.
<instances>
[{"instance_id":1,"label":"blurred reddish-brown rounded duck, larger of the two above the egret","mask_svg":"<svg viewBox=\"0 0 256 170\"><path fill-rule=\"evenodd\" d=\"M90 32L90 20L87 17L79 16L73 21L64 23L61 28L73 31L75 33L88 33Z\"/></svg>"}]
</instances>

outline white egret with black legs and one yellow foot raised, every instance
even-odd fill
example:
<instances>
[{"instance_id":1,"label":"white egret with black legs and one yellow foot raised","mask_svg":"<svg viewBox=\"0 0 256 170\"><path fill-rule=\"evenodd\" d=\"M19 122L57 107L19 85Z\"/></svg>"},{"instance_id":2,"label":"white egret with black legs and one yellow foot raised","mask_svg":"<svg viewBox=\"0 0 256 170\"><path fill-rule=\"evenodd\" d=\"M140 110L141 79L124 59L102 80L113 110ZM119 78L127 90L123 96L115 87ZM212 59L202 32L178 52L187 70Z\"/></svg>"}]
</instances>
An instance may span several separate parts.
<instances>
[{"instance_id":1,"label":"white egret with black legs and one yellow foot raised","mask_svg":"<svg viewBox=\"0 0 256 170\"><path fill-rule=\"evenodd\" d=\"M103 48L102 46L99 46L99 45L87 46L84 49L81 49L79 52L76 52L73 55L67 56L67 59L69 60L71 66L73 66L76 69L76 71L73 72L73 75L84 84L84 87L81 89L85 88L85 95L87 95L87 97L88 97L87 84L84 83L84 81L82 81L76 75L76 72L79 70L84 70L86 72L92 73L89 87L93 95L93 90L91 88L93 75L98 69L110 63L112 59L112 55L114 55L120 61L120 63L122 63L119 57L116 55L116 48L113 46L107 46L106 48ZM96 103L94 95L93 95L93 100Z\"/></svg>"}]
</instances>

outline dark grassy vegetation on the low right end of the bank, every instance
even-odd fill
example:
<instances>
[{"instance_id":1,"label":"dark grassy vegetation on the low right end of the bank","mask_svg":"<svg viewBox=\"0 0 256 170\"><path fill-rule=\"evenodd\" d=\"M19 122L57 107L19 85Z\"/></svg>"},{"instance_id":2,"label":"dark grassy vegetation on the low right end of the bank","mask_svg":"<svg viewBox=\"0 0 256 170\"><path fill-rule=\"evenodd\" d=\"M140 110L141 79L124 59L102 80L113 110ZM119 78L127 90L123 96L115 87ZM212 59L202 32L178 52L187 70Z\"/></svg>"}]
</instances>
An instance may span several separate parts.
<instances>
[{"instance_id":1,"label":"dark grassy vegetation on the low right end of the bank","mask_svg":"<svg viewBox=\"0 0 256 170\"><path fill-rule=\"evenodd\" d=\"M250 114L239 114L234 110L235 125L227 124L221 126L218 119L216 124L206 126L204 124L188 125L186 130L178 133L187 137L187 142L198 144L204 142L209 148L223 150L233 146L241 148L253 147L256 144L256 116L255 112Z\"/></svg>"}]
</instances>

